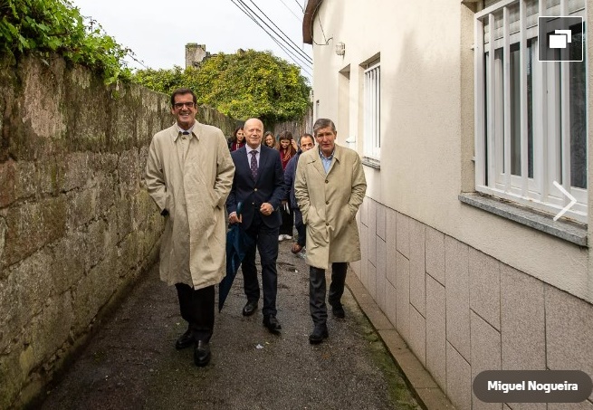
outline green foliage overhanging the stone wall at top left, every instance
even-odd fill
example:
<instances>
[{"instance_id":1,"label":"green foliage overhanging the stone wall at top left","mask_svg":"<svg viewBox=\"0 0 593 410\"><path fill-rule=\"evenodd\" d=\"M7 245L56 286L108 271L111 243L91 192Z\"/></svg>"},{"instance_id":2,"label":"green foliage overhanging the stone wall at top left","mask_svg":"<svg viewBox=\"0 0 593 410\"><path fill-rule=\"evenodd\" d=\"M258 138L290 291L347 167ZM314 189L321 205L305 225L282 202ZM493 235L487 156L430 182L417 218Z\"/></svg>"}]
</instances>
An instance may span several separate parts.
<instances>
[{"instance_id":1,"label":"green foliage overhanging the stone wall at top left","mask_svg":"<svg viewBox=\"0 0 593 410\"><path fill-rule=\"evenodd\" d=\"M0 0L0 55L62 55L99 72L106 83L129 80L124 58L133 53L103 33L99 24L84 24L68 0Z\"/></svg>"}]
</instances>

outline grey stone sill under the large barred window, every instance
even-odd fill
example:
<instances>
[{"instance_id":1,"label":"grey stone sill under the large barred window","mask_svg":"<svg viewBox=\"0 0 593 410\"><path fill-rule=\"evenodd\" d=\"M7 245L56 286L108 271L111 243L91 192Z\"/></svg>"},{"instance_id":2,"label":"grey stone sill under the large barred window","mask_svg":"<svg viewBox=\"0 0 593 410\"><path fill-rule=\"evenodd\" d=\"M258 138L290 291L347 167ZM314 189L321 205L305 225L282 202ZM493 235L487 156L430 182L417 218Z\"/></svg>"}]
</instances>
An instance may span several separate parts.
<instances>
[{"instance_id":1,"label":"grey stone sill under the large barred window","mask_svg":"<svg viewBox=\"0 0 593 410\"><path fill-rule=\"evenodd\" d=\"M540 213L525 206L512 204L493 196L477 193L464 193L458 196L467 205L475 206L494 215L524 224L538 231L556 236L579 246L587 246L587 224L566 220L554 221L550 214Z\"/></svg>"}]
</instances>

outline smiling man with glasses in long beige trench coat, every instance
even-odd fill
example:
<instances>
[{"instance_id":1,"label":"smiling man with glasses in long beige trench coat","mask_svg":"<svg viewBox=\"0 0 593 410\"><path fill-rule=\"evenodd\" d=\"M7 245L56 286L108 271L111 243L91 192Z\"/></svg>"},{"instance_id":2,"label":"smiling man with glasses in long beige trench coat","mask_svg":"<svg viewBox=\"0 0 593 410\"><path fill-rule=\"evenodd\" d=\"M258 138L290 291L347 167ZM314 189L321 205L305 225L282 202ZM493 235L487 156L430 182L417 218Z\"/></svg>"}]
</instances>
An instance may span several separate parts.
<instances>
[{"instance_id":1,"label":"smiling man with glasses in long beige trench coat","mask_svg":"<svg viewBox=\"0 0 593 410\"><path fill-rule=\"evenodd\" d=\"M175 285L187 331L176 348L194 346L196 366L210 361L215 284L225 276L225 201L234 164L220 129L196 121L196 94L171 95L177 119L150 143L148 194L166 219L160 244L160 279Z\"/></svg>"}]
</instances>

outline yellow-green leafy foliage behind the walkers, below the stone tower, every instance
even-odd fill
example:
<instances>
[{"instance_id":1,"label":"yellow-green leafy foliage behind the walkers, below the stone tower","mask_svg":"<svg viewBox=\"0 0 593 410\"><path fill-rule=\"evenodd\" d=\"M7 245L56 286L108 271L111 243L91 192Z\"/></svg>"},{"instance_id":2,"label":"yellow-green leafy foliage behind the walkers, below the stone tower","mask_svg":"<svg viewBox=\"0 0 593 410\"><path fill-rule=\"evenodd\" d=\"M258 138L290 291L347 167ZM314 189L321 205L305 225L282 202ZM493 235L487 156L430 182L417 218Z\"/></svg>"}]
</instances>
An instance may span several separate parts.
<instances>
[{"instance_id":1,"label":"yellow-green leafy foliage behind the walkers, below the stone tower","mask_svg":"<svg viewBox=\"0 0 593 410\"><path fill-rule=\"evenodd\" d=\"M220 53L199 68L143 70L134 80L166 94L187 87L200 104L234 119L257 117L267 124L300 119L309 106L310 87L299 68L272 52Z\"/></svg>"}]
</instances>

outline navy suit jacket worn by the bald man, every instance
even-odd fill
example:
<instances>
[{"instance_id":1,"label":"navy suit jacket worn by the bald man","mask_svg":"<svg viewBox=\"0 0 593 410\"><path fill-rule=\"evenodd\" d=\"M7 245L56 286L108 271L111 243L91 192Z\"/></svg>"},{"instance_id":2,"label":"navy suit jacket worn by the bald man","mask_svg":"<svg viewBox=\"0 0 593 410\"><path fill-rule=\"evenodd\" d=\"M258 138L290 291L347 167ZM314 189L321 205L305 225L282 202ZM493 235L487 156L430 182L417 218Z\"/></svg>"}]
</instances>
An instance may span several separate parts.
<instances>
[{"instance_id":1,"label":"navy suit jacket worn by the bald man","mask_svg":"<svg viewBox=\"0 0 593 410\"><path fill-rule=\"evenodd\" d=\"M284 174L280 152L273 148L260 146L260 165L257 179L253 179L247 160L247 148L239 148L231 153L234 162L234 178L231 193L226 199L228 214L236 212L237 204L243 203L243 229L249 229L253 215L260 212L260 206L267 202L273 206L271 215L262 215L263 223L270 228L282 224L280 205L284 199Z\"/></svg>"}]
</instances>

